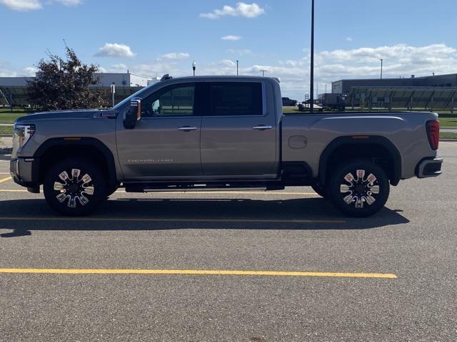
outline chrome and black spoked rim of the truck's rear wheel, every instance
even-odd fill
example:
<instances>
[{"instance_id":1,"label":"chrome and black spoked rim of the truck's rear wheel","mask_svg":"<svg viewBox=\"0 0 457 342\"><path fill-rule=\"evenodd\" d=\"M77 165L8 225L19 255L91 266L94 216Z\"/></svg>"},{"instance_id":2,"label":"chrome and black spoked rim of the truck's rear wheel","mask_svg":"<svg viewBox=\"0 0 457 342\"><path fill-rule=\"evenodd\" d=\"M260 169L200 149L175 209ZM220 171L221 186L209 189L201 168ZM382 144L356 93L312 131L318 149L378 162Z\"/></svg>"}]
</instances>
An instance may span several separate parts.
<instances>
[{"instance_id":1,"label":"chrome and black spoked rim of the truck's rear wheel","mask_svg":"<svg viewBox=\"0 0 457 342\"><path fill-rule=\"evenodd\" d=\"M343 201L348 205L353 205L356 209L363 209L373 205L379 195L379 182L373 173L366 176L366 170L356 170L355 176L348 172L343 177L343 183L340 185L340 192Z\"/></svg>"}]
</instances>

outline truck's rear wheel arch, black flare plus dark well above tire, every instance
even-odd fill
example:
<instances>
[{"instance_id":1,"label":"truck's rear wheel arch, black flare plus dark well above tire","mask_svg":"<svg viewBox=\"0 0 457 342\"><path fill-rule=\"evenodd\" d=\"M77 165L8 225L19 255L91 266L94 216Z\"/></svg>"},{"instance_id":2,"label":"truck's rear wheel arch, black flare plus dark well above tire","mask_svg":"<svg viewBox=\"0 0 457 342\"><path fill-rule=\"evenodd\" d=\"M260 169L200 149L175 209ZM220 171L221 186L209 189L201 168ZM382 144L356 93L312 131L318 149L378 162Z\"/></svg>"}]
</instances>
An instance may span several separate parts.
<instances>
[{"instance_id":1,"label":"truck's rear wheel arch, black flare plus dark well above tire","mask_svg":"<svg viewBox=\"0 0 457 342\"><path fill-rule=\"evenodd\" d=\"M326 185L331 170L341 162L363 158L379 164L388 175L391 185L398 185L401 179L400 152L390 140L376 135L346 136L332 140L319 159L319 182Z\"/></svg>"}]
</instances>

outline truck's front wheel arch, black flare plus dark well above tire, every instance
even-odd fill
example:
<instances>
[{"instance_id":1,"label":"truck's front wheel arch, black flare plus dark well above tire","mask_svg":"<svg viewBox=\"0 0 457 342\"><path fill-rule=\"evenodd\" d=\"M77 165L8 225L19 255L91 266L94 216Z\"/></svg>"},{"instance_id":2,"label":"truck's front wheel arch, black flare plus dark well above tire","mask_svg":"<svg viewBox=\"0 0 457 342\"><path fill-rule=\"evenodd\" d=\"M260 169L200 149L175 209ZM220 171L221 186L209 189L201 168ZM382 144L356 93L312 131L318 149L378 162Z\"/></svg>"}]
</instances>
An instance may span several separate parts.
<instances>
[{"instance_id":1,"label":"truck's front wheel arch, black flare plus dark well above tire","mask_svg":"<svg viewBox=\"0 0 457 342\"><path fill-rule=\"evenodd\" d=\"M94 164L99 165L106 175L109 189L118 187L114 155L103 142L96 138L78 138L78 140L51 138L46 140L34 155L35 160L38 161L33 171L37 182L42 184L46 177L46 170L49 170L56 162L68 157L91 160Z\"/></svg>"}]
</instances>

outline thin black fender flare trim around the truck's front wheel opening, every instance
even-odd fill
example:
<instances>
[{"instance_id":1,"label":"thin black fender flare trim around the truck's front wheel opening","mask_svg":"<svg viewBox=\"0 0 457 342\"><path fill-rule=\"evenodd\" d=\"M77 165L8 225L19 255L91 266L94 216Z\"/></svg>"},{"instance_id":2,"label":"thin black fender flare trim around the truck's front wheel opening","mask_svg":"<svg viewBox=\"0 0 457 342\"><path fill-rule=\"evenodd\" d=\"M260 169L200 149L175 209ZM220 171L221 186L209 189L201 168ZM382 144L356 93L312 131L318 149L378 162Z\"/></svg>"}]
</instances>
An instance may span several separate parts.
<instances>
[{"instance_id":1,"label":"thin black fender flare trim around the truck's front wheel opening","mask_svg":"<svg viewBox=\"0 0 457 342\"><path fill-rule=\"evenodd\" d=\"M118 185L116 176L116 163L114 162L114 155L109 148L99 139L90 137L81 138L50 138L43 142L34 154L34 165L32 167L32 175L34 182L39 180L39 161L47 150L55 146L90 146L99 150L105 157L108 169L109 186L114 188Z\"/></svg>"}]
</instances>

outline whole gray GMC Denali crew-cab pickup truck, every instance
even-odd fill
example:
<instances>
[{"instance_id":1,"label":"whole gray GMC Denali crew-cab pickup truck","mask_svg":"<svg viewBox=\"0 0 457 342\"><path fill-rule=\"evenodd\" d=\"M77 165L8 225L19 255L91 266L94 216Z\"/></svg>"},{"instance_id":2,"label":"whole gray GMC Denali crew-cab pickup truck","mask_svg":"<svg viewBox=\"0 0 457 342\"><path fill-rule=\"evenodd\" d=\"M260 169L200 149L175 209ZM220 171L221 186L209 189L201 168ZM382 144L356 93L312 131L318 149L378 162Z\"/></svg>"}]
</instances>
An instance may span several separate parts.
<instances>
[{"instance_id":1,"label":"whole gray GMC Denali crew-cab pickup truck","mask_svg":"<svg viewBox=\"0 0 457 342\"><path fill-rule=\"evenodd\" d=\"M390 185L441 174L435 113L284 115L274 78L166 79L109 110L16 120L11 175L57 212L126 192L312 186L367 217Z\"/></svg>"}]
</instances>

